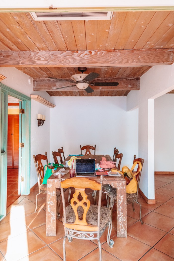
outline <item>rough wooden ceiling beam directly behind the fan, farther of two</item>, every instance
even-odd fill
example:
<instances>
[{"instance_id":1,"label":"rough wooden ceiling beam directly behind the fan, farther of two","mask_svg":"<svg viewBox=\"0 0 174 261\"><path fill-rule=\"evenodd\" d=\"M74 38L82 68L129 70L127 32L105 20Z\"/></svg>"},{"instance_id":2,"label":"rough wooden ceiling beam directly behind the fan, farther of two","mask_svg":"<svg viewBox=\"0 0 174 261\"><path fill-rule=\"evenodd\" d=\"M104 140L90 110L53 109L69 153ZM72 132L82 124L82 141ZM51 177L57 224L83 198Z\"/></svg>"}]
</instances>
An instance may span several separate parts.
<instances>
[{"instance_id":1,"label":"rough wooden ceiling beam directly behind the fan, farther of two","mask_svg":"<svg viewBox=\"0 0 174 261\"><path fill-rule=\"evenodd\" d=\"M67 79L68 80L68 79ZM91 86L93 90L97 91L110 91L110 90L140 90L140 78L96 78L93 82L118 82L118 86ZM34 91L53 91L56 88L73 85L71 82L57 81L49 78L34 78L33 90ZM74 82L75 85L75 82ZM63 91L76 91L76 85L73 87L63 88ZM56 90L61 91L61 89Z\"/></svg>"}]
</instances>

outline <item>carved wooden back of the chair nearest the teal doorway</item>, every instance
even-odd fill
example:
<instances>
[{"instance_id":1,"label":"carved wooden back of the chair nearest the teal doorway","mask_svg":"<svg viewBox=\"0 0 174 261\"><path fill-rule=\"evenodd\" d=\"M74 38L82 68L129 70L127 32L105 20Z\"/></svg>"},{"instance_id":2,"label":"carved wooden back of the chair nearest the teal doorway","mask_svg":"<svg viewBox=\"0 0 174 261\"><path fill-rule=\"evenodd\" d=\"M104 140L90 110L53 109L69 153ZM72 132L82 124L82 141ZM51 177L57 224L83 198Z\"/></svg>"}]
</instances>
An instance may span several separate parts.
<instances>
[{"instance_id":1,"label":"carved wooden back of the chair nearest the teal doorway","mask_svg":"<svg viewBox=\"0 0 174 261\"><path fill-rule=\"evenodd\" d=\"M45 151L45 155L43 154L37 154L36 156L33 155L33 159L34 159L34 164L38 176L38 185L40 186L40 182L42 183L44 179L44 166L41 160L46 160L46 164L48 165L47 152Z\"/></svg>"}]
</instances>

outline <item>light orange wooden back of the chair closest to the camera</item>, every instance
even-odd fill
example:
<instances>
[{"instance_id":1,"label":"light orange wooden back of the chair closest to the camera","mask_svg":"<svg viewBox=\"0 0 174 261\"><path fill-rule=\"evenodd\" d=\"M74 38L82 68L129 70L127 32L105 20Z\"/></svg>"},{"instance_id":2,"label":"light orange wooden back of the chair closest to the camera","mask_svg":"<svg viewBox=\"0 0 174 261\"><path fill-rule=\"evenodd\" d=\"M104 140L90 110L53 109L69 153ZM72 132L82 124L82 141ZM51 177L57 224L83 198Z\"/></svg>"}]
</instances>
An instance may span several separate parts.
<instances>
[{"instance_id":1,"label":"light orange wooden back of the chair closest to the camera","mask_svg":"<svg viewBox=\"0 0 174 261\"><path fill-rule=\"evenodd\" d=\"M103 184L103 175L100 176L100 183L95 180L83 178L83 177L74 177L71 179L62 180L61 174L59 175L60 185L61 185L61 194L63 201L63 212L64 212L64 224L66 228L75 229L79 231L98 231L100 230L100 207L101 207L101 193L102 193L102 184ZM75 193L71 199L71 206L75 213L75 222L67 223L66 218L66 209L65 209L65 199L63 194L63 188L74 187ZM97 226L92 226L86 221L86 214L90 207L90 200L87 198L88 195L85 193L85 188L91 188L92 190L99 190L99 203L98 203L98 224ZM79 194L82 196L82 200L78 199ZM83 218L79 219L77 209L81 206L83 208Z\"/></svg>"}]
</instances>

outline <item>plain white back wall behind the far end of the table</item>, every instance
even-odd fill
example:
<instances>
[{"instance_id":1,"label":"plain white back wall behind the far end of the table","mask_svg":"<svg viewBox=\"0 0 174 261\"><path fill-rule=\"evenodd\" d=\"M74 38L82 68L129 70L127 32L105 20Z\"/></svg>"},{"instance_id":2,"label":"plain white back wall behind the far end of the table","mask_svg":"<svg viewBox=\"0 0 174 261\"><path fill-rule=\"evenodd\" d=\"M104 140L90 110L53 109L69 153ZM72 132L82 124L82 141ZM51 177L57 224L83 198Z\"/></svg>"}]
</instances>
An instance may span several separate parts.
<instances>
[{"instance_id":1,"label":"plain white back wall behind the far end of the table","mask_svg":"<svg viewBox=\"0 0 174 261\"><path fill-rule=\"evenodd\" d=\"M121 167L138 153L138 109L126 111L126 97L51 97L50 153L80 153L80 144L96 144L96 154L123 153ZM50 156L52 156L50 154Z\"/></svg>"}]
</instances>

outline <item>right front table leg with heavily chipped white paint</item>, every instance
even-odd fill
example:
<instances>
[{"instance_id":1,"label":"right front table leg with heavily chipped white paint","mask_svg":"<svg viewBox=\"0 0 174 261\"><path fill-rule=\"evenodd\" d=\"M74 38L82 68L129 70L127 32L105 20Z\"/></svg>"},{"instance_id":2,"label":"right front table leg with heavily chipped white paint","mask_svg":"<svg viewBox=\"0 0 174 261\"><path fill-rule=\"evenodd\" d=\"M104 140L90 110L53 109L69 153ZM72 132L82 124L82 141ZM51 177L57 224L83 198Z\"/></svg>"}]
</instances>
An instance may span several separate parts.
<instances>
[{"instance_id":1,"label":"right front table leg with heavily chipped white paint","mask_svg":"<svg viewBox=\"0 0 174 261\"><path fill-rule=\"evenodd\" d=\"M117 237L127 237L126 216L126 182L122 181L117 186Z\"/></svg>"}]
</instances>

